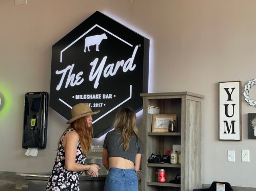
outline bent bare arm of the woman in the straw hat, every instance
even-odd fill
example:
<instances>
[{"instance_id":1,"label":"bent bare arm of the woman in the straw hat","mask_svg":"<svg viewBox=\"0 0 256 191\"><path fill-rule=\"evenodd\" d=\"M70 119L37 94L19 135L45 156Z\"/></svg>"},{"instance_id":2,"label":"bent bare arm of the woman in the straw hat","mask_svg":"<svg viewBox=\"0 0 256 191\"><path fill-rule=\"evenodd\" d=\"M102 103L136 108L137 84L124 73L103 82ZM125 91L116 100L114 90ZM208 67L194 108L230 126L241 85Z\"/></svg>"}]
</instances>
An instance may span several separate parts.
<instances>
[{"instance_id":1,"label":"bent bare arm of the woman in the straw hat","mask_svg":"<svg viewBox=\"0 0 256 191\"><path fill-rule=\"evenodd\" d=\"M98 172L100 168L96 164L83 165L75 162L78 139L79 139L79 136L75 131L68 132L63 139L63 147L65 148L66 169L68 171L75 171L75 172L88 171L88 170L90 172L93 172L93 171Z\"/></svg>"}]
</instances>

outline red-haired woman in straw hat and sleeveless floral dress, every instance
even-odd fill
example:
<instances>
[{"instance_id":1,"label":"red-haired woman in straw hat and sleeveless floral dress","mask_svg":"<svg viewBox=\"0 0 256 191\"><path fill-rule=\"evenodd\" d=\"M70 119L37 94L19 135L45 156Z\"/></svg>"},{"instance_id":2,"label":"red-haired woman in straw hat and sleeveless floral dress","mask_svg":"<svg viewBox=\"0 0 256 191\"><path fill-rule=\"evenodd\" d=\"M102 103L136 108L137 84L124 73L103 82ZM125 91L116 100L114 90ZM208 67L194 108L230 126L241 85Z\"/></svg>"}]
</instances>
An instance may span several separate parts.
<instances>
[{"instance_id":1,"label":"red-haired woman in straw hat and sleeveless floral dress","mask_svg":"<svg viewBox=\"0 0 256 191\"><path fill-rule=\"evenodd\" d=\"M48 190L80 190L79 175L83 171L97 177L99 166L85 165L85 155L91 149L92 117L100 111L92 112L86 103L75 105L70 124L58 140L57 156L52 174L46 186Z\"/></svg>"}]
</instances>

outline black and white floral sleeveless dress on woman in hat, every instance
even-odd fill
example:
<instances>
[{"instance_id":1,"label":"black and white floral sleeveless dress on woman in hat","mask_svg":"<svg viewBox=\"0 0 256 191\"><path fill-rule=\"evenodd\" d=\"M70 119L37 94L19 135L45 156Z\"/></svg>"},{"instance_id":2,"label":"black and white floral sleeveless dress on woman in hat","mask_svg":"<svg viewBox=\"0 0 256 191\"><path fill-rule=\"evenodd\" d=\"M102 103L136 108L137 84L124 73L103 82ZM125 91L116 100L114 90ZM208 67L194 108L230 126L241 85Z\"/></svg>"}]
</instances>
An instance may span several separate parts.
<instances>
[{"instance_id":1,"label":"black and white floral sleeveless dress on woman in hat","mask_svg":"<svg viewBox=\"0 0 256 191\"><path fill-rule=\"evenodd\" d=\"M49 177L46 191L48 190L56 190L56 191L74 191L79 189L79 175L83 173L83 171L73 172L68 171L65 168L65 149L63 147L63 138L64 136L70 132L75 131L74 129L67 129L64 132L60 145L58 146L57 156L55 159L55 164L53 166L52 174ZM81 150L81 143L78 140L77 149L76 149L76 157L75 162L78 164L85 164L85 155L83 155Z\"/></svg>"}]
</instances>

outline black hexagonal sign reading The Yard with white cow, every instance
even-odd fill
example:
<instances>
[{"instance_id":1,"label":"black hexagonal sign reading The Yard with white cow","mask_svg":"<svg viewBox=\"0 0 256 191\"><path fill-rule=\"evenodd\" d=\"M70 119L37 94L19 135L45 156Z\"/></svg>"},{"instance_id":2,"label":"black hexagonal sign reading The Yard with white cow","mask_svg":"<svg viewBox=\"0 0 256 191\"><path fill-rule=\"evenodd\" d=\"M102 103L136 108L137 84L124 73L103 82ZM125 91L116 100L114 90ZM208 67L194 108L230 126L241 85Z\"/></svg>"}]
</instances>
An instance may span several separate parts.
<instances>
[{"instance_id":1,"label":"black hexagonal sign reading The Yard with white cow","mask_svg":"<svg viewBox=\"0 0 256 191\"><path fill-rule=\"evenodd\" d=\"M52 46L50 107L67 120L88 103L94 137L111 128L120 107L142 108L148 92L149 39L96 11Z\"/></svg>"}]
</instances>

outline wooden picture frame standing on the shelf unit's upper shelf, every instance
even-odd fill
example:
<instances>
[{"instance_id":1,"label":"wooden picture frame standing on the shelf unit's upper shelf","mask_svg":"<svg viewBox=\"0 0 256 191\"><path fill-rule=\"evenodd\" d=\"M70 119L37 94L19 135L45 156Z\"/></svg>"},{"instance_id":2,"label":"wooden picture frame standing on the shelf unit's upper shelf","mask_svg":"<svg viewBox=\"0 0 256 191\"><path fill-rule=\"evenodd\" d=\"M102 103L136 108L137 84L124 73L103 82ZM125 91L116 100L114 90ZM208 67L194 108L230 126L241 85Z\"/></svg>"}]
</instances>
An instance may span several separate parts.
<instances>
[{"instance_id":1,"label":"wooden picture frame standing on the shelf unit's upper shelf","mask_svg":"<svg viewBox=\"0 0 256 191\"><path fill-rule=\"evenodd\" d=\"M151 132L168 132L169 120L175 120L176 114L152 114L152 131ZM177 125L176 125L177 126Z\"/></svg>"}]
</instances>

